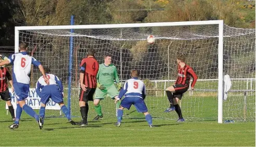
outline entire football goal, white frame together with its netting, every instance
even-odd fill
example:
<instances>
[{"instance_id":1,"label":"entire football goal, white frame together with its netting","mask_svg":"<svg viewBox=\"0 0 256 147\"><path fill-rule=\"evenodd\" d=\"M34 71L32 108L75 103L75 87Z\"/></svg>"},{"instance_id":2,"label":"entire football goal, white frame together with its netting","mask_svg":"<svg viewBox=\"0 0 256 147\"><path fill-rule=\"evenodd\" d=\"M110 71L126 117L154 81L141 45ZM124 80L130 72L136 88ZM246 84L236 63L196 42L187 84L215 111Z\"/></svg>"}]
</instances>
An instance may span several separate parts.
<instances>
[{"instance_id":1,"label":"entire football goal, white frame together with its netting","mask_svg":"<svg viewBox=\"0 0 256 147\"><path fill-rule=\"evenodd\" d=\"M177 78L176 55L184 54L198 75L195 90L187 91L181 100L186 120L255 121L255 29L229 27L219 20L22 26L15 30L16 52L20 41L27 42L30 54L61 79L72 116L80 116L80 62L88 49L95 49L99 64L105 54L112 55L122 82L130 78L131 69L140 71L147 88L146 105L153 117L177 119L176 112L163 112L169 106L164 89ZM146 40L149 35L156 38L152 45ZM224 101L222 79L226 74L231 77L232 88ZM31 87L40 76L33 68ZM116 116L116 106L109 97L101 106L105 117ZM92 102L89 107L89 116L96 115ZM60 114L47 110L46 115ZM125 110L124 115L143 116L134 108Z\"/></svg>"}]
</instances>

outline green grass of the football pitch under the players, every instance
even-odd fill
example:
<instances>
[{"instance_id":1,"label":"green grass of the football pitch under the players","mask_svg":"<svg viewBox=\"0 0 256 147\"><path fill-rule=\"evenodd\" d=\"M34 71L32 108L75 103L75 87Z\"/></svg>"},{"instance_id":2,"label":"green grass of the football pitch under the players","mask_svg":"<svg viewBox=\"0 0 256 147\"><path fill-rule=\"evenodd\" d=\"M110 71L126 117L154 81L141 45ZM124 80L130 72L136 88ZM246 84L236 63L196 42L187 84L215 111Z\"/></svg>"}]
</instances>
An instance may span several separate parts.
<instances>
[{"instance_id":1,"label":"green grass of the football pitch under the players","mask_svg":"<svg viewBox=\"0 0 256 147\"><path fill-rule=\"evenodd\" d=\"M155 97L148 99L153 101ZM193 101L185 98L183 102L186 100ZM105 105L108 101L105 99ZM208 97L203 101L204 108L208 108L208 111L203 110L200 115L195 113L195 116L216 118L215 98ZM150 105L150 102L147 104L149 110L152 110L153 105ZM216 119L213 121L204 119L204 121L176 123L175 120L153 119L153 124L157 127L149 128L144 116L133 111L134 108L125 111L124 114L129 116L124 116L121 127L114 127L116 118L107 114L103 120L89 121L86 127L72 126L67 123L65 117L47 118L44 128L40 130L34 119L23 112L20 127L10 130L7 126L12 124L12 121L10 115L6 115L4 105L4 101L1 101L0 146L255 146L255 122L236 121L232 124L218 124ZM105 110L110 109L106 107ZM182 108L183 111L189 109L185 106ZM175 112L162 113L162 111L155 109L153 113L162 116L173 115L176 118ZM253 112L255 116L255 106ZM95 112L90 109L89 120L92 120L94 115ZM186 119L188 113L184 112L183 115ZM132 119L133 117L139 119ZM80 121L80 117L73 119Z\"/></svg>"}]
</instances>

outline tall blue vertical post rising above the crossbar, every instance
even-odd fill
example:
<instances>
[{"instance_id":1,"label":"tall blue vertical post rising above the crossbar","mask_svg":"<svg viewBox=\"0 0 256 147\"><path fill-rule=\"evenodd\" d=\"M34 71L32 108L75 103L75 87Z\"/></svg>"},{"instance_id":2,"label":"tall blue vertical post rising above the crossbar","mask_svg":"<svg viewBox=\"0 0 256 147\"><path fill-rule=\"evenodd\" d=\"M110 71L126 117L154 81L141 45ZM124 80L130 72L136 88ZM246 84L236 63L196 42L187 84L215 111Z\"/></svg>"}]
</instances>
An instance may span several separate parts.
<instances>
[{"instance_id":1,"label":"tall blue vertical post rising above the crossbar","mask_svg":"<svg viewBox=\"0 0 256 147\"><path fill-rule=\"evenodd\" d=\"M74 16L71 16L70 25L74 25ZM70 33L73 33L74 30L71 29ZM71 75L72 75L72 57L73 57L73 36L70 36L69 39L69 82L68 82L68 109L71 114ZM72 116L72 114L71 114Z\"/></svg>"}]
</instances>

